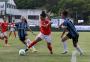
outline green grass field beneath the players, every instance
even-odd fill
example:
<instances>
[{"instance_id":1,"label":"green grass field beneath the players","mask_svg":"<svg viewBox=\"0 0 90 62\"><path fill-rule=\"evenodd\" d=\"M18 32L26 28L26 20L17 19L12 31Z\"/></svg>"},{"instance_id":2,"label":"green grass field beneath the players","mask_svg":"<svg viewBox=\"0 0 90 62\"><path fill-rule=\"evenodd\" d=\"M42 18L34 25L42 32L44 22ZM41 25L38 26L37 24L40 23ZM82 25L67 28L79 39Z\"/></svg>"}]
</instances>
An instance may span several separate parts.
<instances>
[{"instance_id":1,"label":"green grass field beneath the players","mask_svg":"<svg viewBox=\"0 0 90 62\"><path fill-rule=\"evenodd\" d=\"M38 34L38 32L35 32ZM29 38L33 40L35 36L29 33ZM24 45L18 38L13 39L13 35L9 38L10 47L3 47L3 41L0 40L0 62L71 62L72 51L75 49L72 46L71 40L68 40L69 52L66 55L63 52L62 43L60 42L60 32L52 33L53 55L49 54L46 43L39 42L35 47L37 53L28 52L26 56L19 56L18 51L24 48ZM77 62L90 62L90 32L80 32L79 44L84 50L84 56L77 54Z\"/></svg>"}]
</instances>

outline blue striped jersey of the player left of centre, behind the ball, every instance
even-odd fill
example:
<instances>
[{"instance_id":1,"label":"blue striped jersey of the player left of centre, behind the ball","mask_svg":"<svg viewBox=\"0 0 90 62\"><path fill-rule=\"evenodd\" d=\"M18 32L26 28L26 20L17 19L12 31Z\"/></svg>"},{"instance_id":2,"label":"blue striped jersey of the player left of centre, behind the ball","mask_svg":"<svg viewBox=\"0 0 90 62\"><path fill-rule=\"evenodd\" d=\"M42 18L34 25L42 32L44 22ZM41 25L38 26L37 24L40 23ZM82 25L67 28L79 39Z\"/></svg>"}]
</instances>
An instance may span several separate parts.
<instances>
[{"instance_id":1,"label":"blue striped jersey of the player left of centre, behind the ball","mask_svg":"<svg viewBox=\"0 0 90 62\"><path fill-rule=\"evenodd\" d=\"M15 24L19 37L25 37L27 35L26 30L29 28L28 24L25 22L19 22Z\"/></svg>"}]
</instances>

